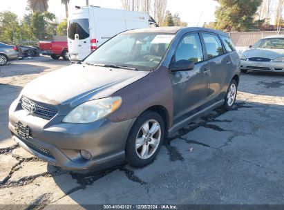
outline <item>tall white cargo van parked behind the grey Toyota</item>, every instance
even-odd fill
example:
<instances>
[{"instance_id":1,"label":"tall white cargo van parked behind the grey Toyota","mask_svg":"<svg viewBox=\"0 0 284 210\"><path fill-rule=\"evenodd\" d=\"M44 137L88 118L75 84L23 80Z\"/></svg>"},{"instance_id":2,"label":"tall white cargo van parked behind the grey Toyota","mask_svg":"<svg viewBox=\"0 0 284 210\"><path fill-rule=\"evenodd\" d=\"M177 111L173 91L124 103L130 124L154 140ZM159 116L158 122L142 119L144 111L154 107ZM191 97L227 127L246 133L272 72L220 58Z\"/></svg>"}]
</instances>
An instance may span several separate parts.
<instances>
[{"instance_id":1,"label":"tall white cargo van parked behind the grey Toyota","mask_svg":"<svg viewBox=\"0 0 284 210\"><path fill-rule=\"evenodd\" d=\"M68 17L70 60L84 59L98 46L122 31L155 26L158 26L157 23L144 12L76 6Z\"/></svg>"}]
</instances>

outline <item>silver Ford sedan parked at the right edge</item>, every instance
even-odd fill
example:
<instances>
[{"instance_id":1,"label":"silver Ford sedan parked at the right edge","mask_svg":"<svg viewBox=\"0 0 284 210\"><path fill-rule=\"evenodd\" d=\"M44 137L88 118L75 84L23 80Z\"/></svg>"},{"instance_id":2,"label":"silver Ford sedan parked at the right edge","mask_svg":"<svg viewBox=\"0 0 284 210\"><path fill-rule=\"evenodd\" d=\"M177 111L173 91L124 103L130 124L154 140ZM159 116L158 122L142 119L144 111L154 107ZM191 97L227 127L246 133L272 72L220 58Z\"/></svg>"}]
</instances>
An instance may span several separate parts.
<instances>
[{"instance_id":1,"label":"silver Ford sedan parked at the right edge","mask_svg":"<svg viewBox=\"0 0 284 210\"><path fill-rule=\"evenodd\" d=\"M284 35L260 39L240 56L242 73L247 70L284 73Z\"/></svg>"}]
</instances>

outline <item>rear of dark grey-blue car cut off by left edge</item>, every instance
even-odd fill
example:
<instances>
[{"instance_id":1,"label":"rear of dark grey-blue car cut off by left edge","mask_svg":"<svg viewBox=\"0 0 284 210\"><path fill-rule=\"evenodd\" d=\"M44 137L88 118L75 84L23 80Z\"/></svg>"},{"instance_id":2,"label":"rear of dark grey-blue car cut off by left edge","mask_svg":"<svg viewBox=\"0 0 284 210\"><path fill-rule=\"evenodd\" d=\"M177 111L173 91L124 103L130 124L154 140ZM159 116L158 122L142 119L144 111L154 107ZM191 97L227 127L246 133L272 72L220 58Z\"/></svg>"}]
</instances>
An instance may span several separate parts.
<instances>
[{"instance_id":1,"label":"rear of dark grey-blue car cut off by left edge","mask_svg":"<svg viewBox=\"0 0 284 210\"><path fill-rule=\"evenodd\" d=\"M19 53L15 45L0 42L0 66L4 66L8 61L18 59Z\"/></svg>"}]
</instances>

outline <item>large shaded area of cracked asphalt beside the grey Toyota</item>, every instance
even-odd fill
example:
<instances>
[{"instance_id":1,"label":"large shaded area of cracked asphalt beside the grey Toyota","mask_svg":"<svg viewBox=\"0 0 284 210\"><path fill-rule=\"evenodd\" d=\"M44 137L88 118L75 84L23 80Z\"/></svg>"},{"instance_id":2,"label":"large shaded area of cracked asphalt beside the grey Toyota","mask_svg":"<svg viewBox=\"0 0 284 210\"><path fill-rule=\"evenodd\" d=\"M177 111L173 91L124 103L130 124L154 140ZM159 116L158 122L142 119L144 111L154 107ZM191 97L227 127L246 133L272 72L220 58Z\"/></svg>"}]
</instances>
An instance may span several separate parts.
<instances>
[{"instance_id":1,"label":"large shaded area of cracked asphalt beside the grey Toyota","mask_svg":"<svg viewBox=\"0 0 284 210\"><path fill-rule=\"evenodd\" d=\"M279 113L283 106L244 102L233 111L218 108L168 138L155 162L142 169L122 164L88 173L65 171L77 182L68 191L53 176L65 193L55 203L283 204Z\"/></svg>"}]
</instances>

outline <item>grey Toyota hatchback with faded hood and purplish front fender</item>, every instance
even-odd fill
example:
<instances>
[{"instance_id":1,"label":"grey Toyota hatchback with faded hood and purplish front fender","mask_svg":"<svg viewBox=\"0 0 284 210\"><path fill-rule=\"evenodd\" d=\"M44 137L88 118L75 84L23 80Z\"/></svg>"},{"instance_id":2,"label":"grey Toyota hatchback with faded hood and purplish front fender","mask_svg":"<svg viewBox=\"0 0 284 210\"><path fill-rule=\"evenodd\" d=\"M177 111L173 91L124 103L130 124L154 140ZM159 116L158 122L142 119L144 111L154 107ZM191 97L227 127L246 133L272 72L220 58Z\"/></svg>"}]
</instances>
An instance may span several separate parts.
<instances>
[{"instance_id":1,"label":"grey Toyota hatchback with faded hood and purplish front fender","mask_svg":"<svg viewBox=\"0 0 284 210\"><path fill-rule=\"evenodd\" d=\"M9 128L24 149L65 169L144 166L167 135L218 106L231 110L240 59L224 32L122 32L84 61L28 84Z\"/></svg>"}]
</instances>

